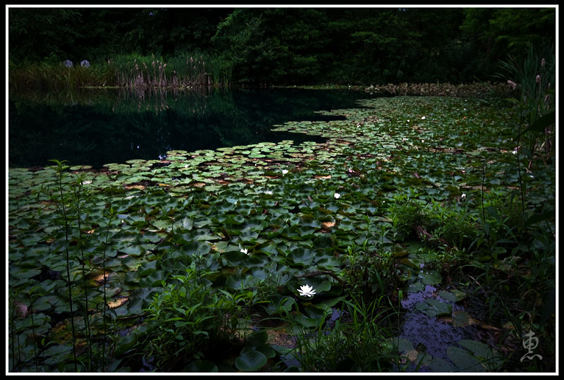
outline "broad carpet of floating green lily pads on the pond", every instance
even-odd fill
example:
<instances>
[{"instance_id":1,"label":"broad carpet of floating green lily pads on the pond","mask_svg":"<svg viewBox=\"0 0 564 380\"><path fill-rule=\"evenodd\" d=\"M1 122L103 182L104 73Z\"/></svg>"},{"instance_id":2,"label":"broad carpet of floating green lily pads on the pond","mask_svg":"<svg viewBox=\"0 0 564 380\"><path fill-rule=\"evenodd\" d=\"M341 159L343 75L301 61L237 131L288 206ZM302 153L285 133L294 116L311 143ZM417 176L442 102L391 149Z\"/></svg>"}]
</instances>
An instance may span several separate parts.
<instances>
[{"instance_id":1,"label":"broad carpet of floating green lily pads on the pond","mask_svg":"<svg viewBox=\"0 0 564 380\"><path fill-rule=\"evenodd\" d=\"M298 300L296 289L305 285L316 292L308 293L314 294L308 297L313 304L341 296L343 283L336 278L346 264L344 253L367 237L366 217L374 226L390 225L387 205L396 195L415 189L420 200L455 200L465 194L472 202L482 185L517 183L509 164L509 120L492 102L366 99L359 109L321 112L345 116L344 121L274 126L321 135L328 138L325 143L286 140L176 150L161 160L106 164L102 171L71 166L70 178L80 177L89 194L78 217L91 257L88 276L94 283L97 276L107 276L103 286L114 302L114 315L123 320L142 314L163 284L191 265L206 269L214 288L274 286L264 305L269 313L279 310L285 298ZM533 178L529 183L529 188L538 186ZM8 170L8 285L27 306L25 289L41 288L33 310L44 313L36 321L39 315L51 316L41 324L44 334L52 333L57 316L68 312L61 286L63 243L56 238L60 209L44 195L55 186L53 168ZM108 224L110 208L116 216ZM79 231L71 233L76 239ZM78 247L72 241L73 276L80 278ZM109 249L102 256L104 242ZM411 261L402 268L414 265ZM305 280L314 272L320 275ZM422 283L437 278L440 274L429 274ZM427 304L425 311L446 312ZM468 347L453 349L453 355L462 357L460 350ZM235 365L255 368L263 356L249 348Z\"/></svg>"}]
</instances>

